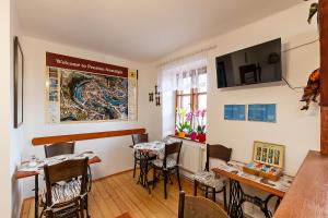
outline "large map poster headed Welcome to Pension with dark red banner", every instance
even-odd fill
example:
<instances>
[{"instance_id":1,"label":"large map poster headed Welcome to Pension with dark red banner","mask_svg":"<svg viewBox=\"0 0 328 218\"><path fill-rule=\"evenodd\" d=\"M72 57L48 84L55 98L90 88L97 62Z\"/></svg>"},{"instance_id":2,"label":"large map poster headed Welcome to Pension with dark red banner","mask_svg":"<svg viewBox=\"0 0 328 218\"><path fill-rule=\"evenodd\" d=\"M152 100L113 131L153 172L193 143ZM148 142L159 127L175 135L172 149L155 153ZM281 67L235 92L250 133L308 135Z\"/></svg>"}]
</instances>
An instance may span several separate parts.
<instances>
[{"instance_id":1,"label":"large map poster headed Welcome to Pension with dark red banner","mask_svg":"<svg viewBox=\"0 0 328 218\"><path fill-rule=\"evenodd\" d=\"M138 71L46 53L49 123L137 120Z\"/></svg>"}]
</instances>

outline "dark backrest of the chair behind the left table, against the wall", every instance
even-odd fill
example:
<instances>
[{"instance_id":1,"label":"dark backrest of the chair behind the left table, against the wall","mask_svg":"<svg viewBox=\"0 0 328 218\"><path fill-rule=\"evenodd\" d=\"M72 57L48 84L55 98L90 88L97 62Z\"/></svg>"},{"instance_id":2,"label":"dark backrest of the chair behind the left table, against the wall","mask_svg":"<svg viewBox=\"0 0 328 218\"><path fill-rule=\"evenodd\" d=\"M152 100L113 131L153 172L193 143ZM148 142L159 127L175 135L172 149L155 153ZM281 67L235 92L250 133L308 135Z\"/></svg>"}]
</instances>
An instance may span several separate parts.
<instances>
[{"instance_id":1,"label":"dark backrest of the chair behind the left table, against the wall","mask_svg":"<svg viewBox=\"0 0 328 218\"><path fill-rule=\"evenodd\" d=\"M46 158L58 155L74 154L75 142L55 143L45 145Z\"/></svg>"}]
</instances>

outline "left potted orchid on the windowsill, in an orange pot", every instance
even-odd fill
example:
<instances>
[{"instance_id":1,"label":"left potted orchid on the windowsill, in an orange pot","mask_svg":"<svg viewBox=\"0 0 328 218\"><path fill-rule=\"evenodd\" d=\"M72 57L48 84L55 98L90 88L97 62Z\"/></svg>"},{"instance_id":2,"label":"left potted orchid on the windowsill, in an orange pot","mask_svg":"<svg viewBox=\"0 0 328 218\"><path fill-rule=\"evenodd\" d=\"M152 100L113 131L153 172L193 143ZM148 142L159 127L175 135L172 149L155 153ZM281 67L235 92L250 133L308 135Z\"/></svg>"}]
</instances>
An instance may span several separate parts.
<instances>
[{"instance_id":1,"label":"left potted orchid on the windowsill, in an orange pot","mask_svg":"<svg viewBox=\"0 0 328 218\"><path fill-rule=\"evenodd\" d=\"M192 113L188 112L183 108L177 108L178 120L176 123L176 130L179 137L186 137L187 134L192 132L190 126L190 121L192 118Z\"/></svg>"}]
</instances>

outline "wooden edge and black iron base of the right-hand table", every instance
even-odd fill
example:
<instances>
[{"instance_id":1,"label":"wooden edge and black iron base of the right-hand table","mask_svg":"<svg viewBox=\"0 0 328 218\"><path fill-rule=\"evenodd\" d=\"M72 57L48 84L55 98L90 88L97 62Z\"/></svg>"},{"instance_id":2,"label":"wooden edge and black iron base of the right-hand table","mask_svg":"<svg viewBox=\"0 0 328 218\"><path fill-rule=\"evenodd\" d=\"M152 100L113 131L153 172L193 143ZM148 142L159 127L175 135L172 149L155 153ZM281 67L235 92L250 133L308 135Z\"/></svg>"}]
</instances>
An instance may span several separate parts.
<instances>
[{"instance_id":1,"label":"wooden edge and black iron base of the right-hand table","mask_svg":"<svg viewBox=\"0 0 328 218\"><path fill-rule=\"evenodd\" d=\"M216 174L226 177L230 180L230 202L229 202L227 213L232 218L244 217L244 213L242 209L242 205L244 202L249 202L255 204L261 209L261 211L265 214L267 218L271 218L273 216L273 213L268 209L268 203L272 198L277 198L276 208L274 208L277 209L277 207L280 204L280 201L285 194L285 191L279 190L274 186L270 186L268 184L265 184L256 180L242 177L235 171L230 172L220 168L213 168L212 171ZM269 193L269 195L265 199L261 199L258 196L248 195L243 191L241 183L263 191L266 193Z\"/></svg>"}]
</instances>

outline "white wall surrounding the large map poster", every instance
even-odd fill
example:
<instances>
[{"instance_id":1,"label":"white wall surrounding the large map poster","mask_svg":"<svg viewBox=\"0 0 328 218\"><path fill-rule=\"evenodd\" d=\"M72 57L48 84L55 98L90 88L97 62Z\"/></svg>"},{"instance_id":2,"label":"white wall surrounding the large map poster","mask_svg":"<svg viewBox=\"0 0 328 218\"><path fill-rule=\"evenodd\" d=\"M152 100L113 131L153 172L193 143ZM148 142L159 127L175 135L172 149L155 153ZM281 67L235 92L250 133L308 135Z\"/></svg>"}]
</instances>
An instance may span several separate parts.
<instances>
[{"instance_id":1,"label":"white wall surrounding the large map poster","mask_svg":"<svg viewBox=\"0 0 328 218\"><path fill-rule=\"evenodd\" d=\"M25 130L22 157L24 160L32 155L44 157L44 147L34 147L31 144L33 137L39 136L147 128L150 137L157 138L155 133L160 125L151 120L155 106L148 102L148 93L155 84L154 70L149 65L31 37L21 37L21 43L25 55ZM46 51L138 69L138 121L47 124L45 120ZM93 150L102 158L101 164L92 167L94 178L99 178L132 169L132 150L128 147L130 144L130 136L112 137L77 142L75 149L77 153ZM33 185L33 179L24 181L25 197L33 194L31 192Z\"/></svg>"}]
</instances>

